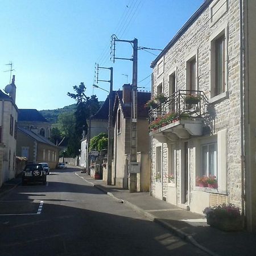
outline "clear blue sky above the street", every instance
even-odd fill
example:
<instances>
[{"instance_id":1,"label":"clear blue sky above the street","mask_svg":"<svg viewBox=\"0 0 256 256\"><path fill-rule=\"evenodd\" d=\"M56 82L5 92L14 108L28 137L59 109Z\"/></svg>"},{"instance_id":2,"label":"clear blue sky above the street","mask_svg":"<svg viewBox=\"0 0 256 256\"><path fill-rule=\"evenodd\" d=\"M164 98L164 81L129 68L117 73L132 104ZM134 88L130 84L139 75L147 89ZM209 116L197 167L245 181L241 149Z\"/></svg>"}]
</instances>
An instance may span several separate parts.
<instances>
[{"instance_id":1,"label":"clear blue sky above the street","mask_svg":"<svg viewBox=\"0 0 256 256\"><path fill-rule=\"evenodd\" d=\"M15 75L19 109L57 109L76 103L67 96L84 82L85 94L104 101L93 88L95 63L113 67L113 89L131 83L132 61L110 61L110 37L138 39L139 47L163 49L204 0L1 0L0 89ZM129 43L116 43L116 57L131 58ZM150 91L156 50L138 51L138 90ZM109 80L100 69L99 80ZM143 81L142 81L143 80ZM109 82L98 82L109 90ZM144 88L143 88L144 87Z\"/></svg>"}]
</instances>

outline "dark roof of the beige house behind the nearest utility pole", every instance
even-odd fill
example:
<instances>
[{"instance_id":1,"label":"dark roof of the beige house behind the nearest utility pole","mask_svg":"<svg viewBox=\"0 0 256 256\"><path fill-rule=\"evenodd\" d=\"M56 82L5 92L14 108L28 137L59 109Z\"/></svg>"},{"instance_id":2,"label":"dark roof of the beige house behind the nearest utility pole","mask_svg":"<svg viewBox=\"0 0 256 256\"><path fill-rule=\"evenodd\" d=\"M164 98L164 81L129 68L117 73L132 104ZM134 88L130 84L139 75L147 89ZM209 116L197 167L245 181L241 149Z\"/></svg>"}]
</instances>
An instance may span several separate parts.
<instances>
[{"instance_id":1,"label":"dark roof of the beige house behind the nearest utility pole","mask_svg":"<svg viewBox=\"0 0 256 256\"><path fill-rule=\"evenodd\" d=\"M138 92L137 97L137 115L138 118L148 118L148 108L145 108L145 104L151 98L150 92ZM114 102L114 111L117 110L117 105L121 104L122 112L125 118L131 117L131 104L123 104L122 101L122 90L118 90L115 102Z\"/></svg>"}]
</instances>

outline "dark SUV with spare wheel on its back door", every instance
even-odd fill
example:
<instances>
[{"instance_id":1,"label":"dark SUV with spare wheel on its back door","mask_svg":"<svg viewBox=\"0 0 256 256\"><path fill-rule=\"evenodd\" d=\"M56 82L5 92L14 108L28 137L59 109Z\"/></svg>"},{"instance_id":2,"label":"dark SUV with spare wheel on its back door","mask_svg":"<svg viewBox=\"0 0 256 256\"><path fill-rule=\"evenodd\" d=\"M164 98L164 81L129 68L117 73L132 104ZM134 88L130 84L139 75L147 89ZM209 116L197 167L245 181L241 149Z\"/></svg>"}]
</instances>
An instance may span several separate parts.
<instances>
[{"instance_id":1,"label":"dark SUV with spare wheel on its back door","mask_svg":"<svg viewBox=\"0 0 256 256\"><path fill-rule=\"evenodd\" d=\"M22 185L28 182L42 182L46 185L46 171L42 164L27 164L22 172Z\"/></svg>"}]
</instances>

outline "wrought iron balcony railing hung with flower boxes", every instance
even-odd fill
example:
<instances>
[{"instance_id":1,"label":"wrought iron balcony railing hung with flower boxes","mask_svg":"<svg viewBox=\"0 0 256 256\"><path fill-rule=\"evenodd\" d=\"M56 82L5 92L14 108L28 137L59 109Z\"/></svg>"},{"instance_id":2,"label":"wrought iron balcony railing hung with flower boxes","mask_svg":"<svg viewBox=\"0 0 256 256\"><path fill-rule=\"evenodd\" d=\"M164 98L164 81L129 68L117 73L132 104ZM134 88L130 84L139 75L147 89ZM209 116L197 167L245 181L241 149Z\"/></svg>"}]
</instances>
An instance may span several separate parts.
<instances>
[{"instance_id":1,"label":"wrought iron balcony railing hung with flower boxes","mask_svg":"<svg viewBox=\"0 0 256 256\"><path fill-rule=\"evenodd\" d=\"M154 105L154 104L152 104ZM208 99L201 90L178 90L149 110L150 130L179 119L197 119L207 110Z\"/></svg>"}]
</instances>

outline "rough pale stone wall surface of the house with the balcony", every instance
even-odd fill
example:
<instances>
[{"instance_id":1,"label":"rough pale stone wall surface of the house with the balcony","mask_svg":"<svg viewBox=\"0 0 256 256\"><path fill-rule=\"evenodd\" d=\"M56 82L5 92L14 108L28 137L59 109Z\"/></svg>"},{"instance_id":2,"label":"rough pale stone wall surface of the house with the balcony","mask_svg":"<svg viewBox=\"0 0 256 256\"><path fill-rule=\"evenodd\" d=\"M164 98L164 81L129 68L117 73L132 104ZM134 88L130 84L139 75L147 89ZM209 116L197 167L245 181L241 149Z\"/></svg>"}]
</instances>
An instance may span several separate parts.
<instances>
[{"instance_id":1,"label":"rough pale stone wall surface of the house with the balcony","mask_svg":"<svg viewBox=\"0 0 256 256\"><path fill-rule=\"evenodd\" d=\"M221 0L222 1L222 0ZM211 3L214 4L217 1ZM225 6L225 1L224 6ZM211 59L211 41L221 31L225 31L226 48L226 92L221 97L212 98L211 76L213 76ZM240 113L240 1L228 1L228 11L224 13L216 23L210 22L209 6L187 28L180 38L168 49L166 55L155 64L153 68L153 90L162 83L163 92L169 96L168 80L172 72L176 71L176 90L186 89L186 61L195 55L197 60L197 89L202 90L210 100L205 115L205 126L210 127L210 136L217 135L219 131L227 130L226 141L226 175L228 183L226 187L228 201L241 206L241 113ZM163 60L163 73L158 74L158 65ZM196 144L201 138L189 139L189 191L195 187L196 179ZM184 140L176 142L176 186L177 202L182 203L180 195L182 183L182 145ZM152 194L155 195L155 146L156 140L152 141ZM162 147L163 152L163 197L167 196L167 144ZM196 197L198 198L198 197ZM190 198L190 202L192 197ZM207 199L205 204L209 203ZM207 206L207 205L206 205ZM197 209L195 208L195 211Z\"/></svg>"}]
</instances>

